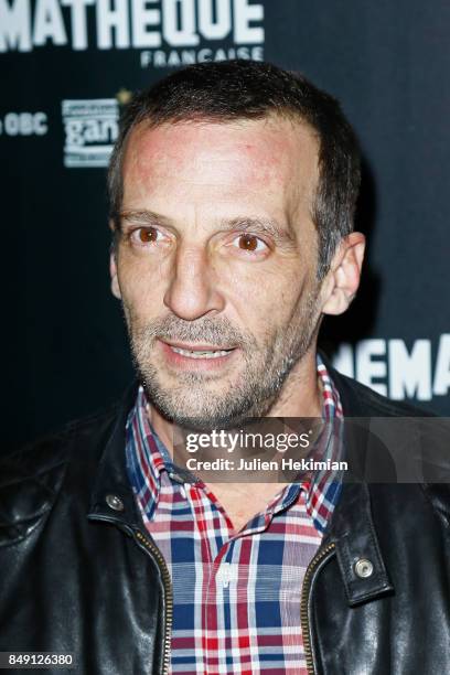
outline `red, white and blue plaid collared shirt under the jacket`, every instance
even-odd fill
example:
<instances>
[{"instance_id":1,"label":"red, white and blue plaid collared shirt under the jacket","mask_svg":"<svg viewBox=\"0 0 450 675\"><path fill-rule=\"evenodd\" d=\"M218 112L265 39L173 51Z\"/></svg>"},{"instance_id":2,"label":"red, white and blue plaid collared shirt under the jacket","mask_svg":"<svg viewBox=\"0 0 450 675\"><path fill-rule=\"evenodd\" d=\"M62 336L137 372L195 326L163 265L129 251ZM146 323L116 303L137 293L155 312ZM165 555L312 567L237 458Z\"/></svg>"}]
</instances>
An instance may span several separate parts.
<instances>
[{"instance_id":1,"label":"red, white and blue plaid collared shirt under the jacket","mask_svg":"<svg viewBox=\"0 0 450 675\"><path fill-rule=\"evenodd\" d=\"M318 375L322 418L340 424L339 394L319 356ZM310 482L287 485L236 533L212 491L173 465L149 424L147 405L140 388L127 422L127 469L146 527L171 574L171 672L307 674L302 582L340 481L322 471ZM335 460L341 442L331 432L323 439L324 433L318 440L324 443L320 459Z\"/></svg>"}]
</instances>

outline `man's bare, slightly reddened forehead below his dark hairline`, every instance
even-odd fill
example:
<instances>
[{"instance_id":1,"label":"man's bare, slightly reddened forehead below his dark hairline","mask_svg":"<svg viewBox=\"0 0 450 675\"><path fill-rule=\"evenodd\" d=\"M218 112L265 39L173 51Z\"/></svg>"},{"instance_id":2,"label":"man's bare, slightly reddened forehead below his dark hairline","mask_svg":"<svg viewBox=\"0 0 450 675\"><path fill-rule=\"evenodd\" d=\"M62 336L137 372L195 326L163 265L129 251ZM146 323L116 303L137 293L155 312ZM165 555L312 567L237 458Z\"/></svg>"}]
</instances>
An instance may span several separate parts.
<instances>
[{"instance_id":1,"label":"man's bare, slightly reddened forehead below his dark hairline","mask_svg":"<svg viewBox=\"0 0 450 675\"><path fill-rule=\"evenodd\" d=\"M124 206L144 206L170 194L180 206L258 202L285 211L309 208L318 151L307 125L280 117L141 124L126 147Z\"/></svg>"}]
</instances>

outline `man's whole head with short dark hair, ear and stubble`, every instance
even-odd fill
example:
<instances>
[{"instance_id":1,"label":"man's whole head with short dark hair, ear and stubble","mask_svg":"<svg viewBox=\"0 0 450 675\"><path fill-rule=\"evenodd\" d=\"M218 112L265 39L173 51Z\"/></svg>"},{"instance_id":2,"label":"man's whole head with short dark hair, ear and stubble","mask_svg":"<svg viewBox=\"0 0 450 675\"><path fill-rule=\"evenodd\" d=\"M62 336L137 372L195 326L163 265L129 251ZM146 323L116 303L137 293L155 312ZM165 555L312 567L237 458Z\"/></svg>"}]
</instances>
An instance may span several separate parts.
<instances>
[{"instance_id":1,"label":"man's whole head with short dark hair, ear and stubble","mask_svg":"<svg viewBox=\"0 0 450 675\"><path fill-rule=\"evenodd\" d=\"M358 279L358 154L336 101L268 64L138 95L109 171L113 290L147 392L190 427L267 414Z\"/></svg>"}]
</instances>

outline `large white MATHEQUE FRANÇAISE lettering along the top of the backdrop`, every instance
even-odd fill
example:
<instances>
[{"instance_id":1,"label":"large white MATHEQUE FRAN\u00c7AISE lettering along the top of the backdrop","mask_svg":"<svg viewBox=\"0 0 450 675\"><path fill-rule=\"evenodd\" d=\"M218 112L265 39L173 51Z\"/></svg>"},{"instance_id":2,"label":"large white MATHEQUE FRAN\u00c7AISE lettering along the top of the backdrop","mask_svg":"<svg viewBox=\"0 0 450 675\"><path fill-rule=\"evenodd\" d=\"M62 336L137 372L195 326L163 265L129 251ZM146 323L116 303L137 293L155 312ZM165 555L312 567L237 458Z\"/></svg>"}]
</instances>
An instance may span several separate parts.
<instances>
[{"instance_id":1,"label":"large white MATHEQUE FRAN\u00c7AISE lettering along the top of the backdrop","mask_svg":"<svg viewBox=\"0 0 450 675\"><path fill-rule=\"evenodd\" d=\"M255 0L0 0L0 52L138 49L143 67L262 58L262 20Z\"/></svg>"}]
</instances>

